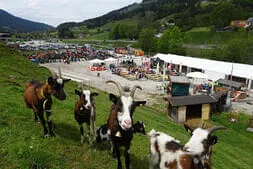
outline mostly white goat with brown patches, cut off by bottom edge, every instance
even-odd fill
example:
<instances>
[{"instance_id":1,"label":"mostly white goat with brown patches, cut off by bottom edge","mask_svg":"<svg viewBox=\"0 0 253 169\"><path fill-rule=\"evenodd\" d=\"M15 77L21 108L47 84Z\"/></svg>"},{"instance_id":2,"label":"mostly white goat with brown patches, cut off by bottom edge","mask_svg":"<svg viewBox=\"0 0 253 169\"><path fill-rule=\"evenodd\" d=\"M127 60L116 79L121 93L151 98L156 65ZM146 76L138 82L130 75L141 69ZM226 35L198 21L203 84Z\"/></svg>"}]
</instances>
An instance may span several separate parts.
<instances>
[{"instance_id":1,"label":"mostly white goat with brown patches, cut off by bottom edge","mask_svg":"<svg viewBox=\"0 0 253 169\"><path fill-rule=\"evenodd\" d=\"M183 146L175 138L151 130L150 136L150 169L211 169L212 146L218 138L212 136L216 130L197 128L190 140Z\"/></svg>"}]
</instances>

